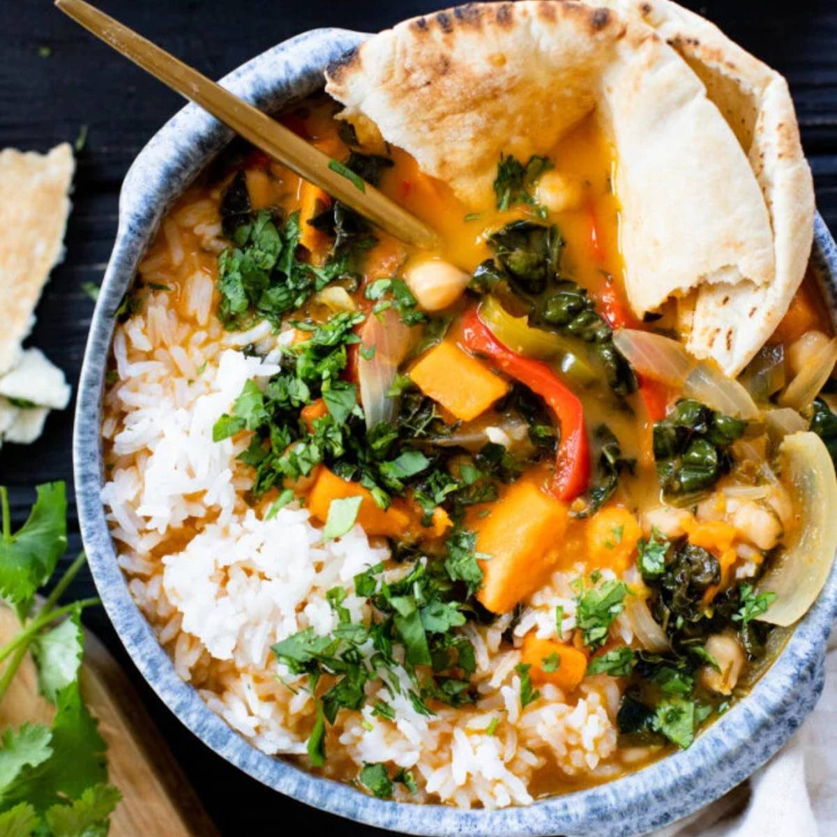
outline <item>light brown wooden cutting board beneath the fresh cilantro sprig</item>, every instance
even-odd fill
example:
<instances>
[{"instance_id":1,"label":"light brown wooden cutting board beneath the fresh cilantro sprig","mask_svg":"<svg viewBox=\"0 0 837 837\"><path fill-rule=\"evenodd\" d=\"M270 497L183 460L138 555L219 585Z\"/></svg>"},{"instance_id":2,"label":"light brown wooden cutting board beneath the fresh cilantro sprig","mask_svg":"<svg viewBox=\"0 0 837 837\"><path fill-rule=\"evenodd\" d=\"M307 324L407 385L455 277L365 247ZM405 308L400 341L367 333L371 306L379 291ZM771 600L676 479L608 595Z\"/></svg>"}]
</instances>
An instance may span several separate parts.
<instances>
[{"instance_id":1,"label":"light brown wooden cutting board beneath the fresh cilantro sprig","mask_svg":"<svg viewBox=\"0 0 837 837\"><path fill-rule=\"evenodd\" d=\"M13 612L0 607L0 644L18 631ZM110 837L218 837L198 796L116 660L85 632L82 691L108 744L110 782L122 801L110 818ZM49 724L54 706L38 691L33 661L23 661L0 703L0 728L25 721Z\"/></svg>"}]
</instances>

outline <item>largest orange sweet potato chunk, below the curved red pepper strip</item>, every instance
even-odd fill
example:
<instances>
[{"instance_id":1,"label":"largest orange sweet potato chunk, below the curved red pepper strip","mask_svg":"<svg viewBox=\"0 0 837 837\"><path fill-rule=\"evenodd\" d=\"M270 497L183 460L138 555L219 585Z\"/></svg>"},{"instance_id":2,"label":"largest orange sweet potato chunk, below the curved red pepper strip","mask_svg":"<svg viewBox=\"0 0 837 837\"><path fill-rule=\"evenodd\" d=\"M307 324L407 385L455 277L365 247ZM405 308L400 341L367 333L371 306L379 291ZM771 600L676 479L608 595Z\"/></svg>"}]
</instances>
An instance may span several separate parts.
<instances>
[{"instance_id":1,"label":"largest orange sweet potato chunk, below the curved red pepper strip","mask_svg":"<svg viewBox=\"0 0 837 837\"><path fill-rule=\"evenodd\" d=\"M529 481L516 482L480 521L476 548L484 574L477 598L503 614L547 581L567 531L567 506Z\"/></svg>"}]
</instances>

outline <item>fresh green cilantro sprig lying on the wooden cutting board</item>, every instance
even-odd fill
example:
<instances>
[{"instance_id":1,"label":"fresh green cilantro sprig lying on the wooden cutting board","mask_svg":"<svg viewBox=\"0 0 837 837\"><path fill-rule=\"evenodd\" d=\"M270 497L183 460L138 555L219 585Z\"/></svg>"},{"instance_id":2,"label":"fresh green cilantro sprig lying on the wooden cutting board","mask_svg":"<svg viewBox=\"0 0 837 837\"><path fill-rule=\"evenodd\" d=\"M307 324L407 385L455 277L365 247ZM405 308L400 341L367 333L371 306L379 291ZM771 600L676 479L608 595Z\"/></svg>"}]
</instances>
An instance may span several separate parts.
<instances>
[{"instance_id":1,"label":"fresh green cilantro sprig lying on the wooden cutting board","mask_svg":"<svg viewBox=\"0 0 837 837\"><path fill-rule=\"evenodd\" d=\"M0 737L0 834L39 837L104 835L119 791L107 783L105 741L82 700L79 670L84 649L81 612L97 598L61 605L85 564L70 563L39 608L35 593L49 581L67 547L63 482L37 487L28 520L11 531L8 492L0 486L0 594L13 605L20 629L3 647L0 701L29 651L39 687L56 707L51 726L23 724Z\"/></svg>"}]
</instances>

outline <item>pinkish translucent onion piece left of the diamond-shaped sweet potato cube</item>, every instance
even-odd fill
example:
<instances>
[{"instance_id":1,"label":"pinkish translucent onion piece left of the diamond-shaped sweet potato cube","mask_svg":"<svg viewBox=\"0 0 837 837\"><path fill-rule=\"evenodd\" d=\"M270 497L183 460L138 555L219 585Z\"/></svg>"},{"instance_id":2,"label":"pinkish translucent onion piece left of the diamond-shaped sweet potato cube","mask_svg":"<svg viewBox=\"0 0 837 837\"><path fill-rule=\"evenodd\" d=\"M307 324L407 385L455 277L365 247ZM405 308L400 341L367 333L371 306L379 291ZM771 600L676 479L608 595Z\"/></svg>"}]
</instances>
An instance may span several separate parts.
<instances>
[{"instance_id":1,"label":"pinkish translucent onion piece left of the diamond-shaped sweet potato cube","mask_svg":"<svg viewBox=\"0 0 837 837\"><path fill-rule=\"evenodd\" d=\"M383 421L392 421L398 409L398 398L388 396L398 367L407 357L412 329L405 326L393 308L380 316L370 315L361 326L361 347L375 348L375 354L367 360L357 357L357 383L360 385L363 414L367 429L371 430Z\"/></svg>"}]
</instances>

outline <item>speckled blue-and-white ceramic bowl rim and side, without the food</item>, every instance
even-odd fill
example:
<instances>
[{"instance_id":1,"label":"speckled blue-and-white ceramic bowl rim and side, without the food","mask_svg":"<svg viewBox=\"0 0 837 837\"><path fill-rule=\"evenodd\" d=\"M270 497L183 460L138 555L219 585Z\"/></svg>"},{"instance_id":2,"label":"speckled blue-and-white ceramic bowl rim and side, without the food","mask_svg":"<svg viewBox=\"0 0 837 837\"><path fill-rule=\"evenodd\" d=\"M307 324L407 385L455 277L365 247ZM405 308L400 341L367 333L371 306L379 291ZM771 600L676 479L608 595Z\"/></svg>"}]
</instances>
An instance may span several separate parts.
<instances>
[{"instance_id":1,"label":"speckled blue-and-white ceramic bowl rim and side, without the food","mask_svg":"<svg viewBox=\"0 0 837 837\"><path fill-rule=\"evenodd\" d=\"M223 84L264 110L277 110L319 89L326 64L366 37L340 29L312 31L259 55L229 74ZM259 752L177 676L116 564L100 503L101 400L114 312L136 275L141 254L167 207L231 136L203 110L188 105L151 139L131 166L122 187L116 244L90 327L75 414L75 488L90 567L122 642L157 694L208 747L259 782L318 809L409 834L629 837L684 817L747 778L782 747L822 691L825 643L837 614L837 568L752 693L703 732L689 750L612 783L527 808L460 811L371 798ZM834 310L837 249L819 216L814 264Z\"/></svg>"}]
</instances>

